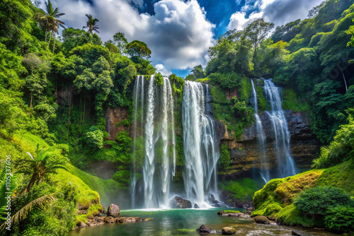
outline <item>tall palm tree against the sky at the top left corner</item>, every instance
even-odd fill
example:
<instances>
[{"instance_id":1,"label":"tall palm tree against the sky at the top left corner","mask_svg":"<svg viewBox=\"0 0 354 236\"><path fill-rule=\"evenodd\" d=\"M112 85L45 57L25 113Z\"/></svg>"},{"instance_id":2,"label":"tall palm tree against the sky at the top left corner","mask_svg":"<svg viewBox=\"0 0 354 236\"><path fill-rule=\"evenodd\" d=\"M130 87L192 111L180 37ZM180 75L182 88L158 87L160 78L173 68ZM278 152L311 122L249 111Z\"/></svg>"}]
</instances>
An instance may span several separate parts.
<instances>
[{"instance_id":1,"label":"tall palm tree against the sky at the top left corner","mask_svg":"<svg viewBox=\"0 0 354 236\"><path fill-rule=\"evenodd\" d=\"M45 27L45 42L47 42L47 35L50 34L50 39L47 45L47 49L50 45L51 34L58 33L58 28L62 27L65 28L65 23L58 18L60 16L64 16L65 13L59 13L59 8L54 8L50 0L45 2L45 10L42 10L42 13L39 13L39 20L41 21L42 25ZM55 49L55 44L53 45L53 52Z\"/></svg>"}]
</instances>

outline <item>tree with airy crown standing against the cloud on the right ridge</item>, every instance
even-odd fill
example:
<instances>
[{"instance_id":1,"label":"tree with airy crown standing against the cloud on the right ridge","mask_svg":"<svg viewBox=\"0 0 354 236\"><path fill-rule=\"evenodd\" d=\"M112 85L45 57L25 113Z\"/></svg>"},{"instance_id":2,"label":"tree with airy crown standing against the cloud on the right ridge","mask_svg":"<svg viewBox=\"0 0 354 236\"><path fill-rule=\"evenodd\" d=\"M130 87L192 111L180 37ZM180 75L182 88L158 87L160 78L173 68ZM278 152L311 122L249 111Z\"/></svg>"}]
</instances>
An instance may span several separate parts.
<instances>
[{"instance_id":1,"label":"tree with airy crown standing against the cloud on the right ridge","mask_svg":"<svg viewBox=\"0 0 354 236\"><path fill-rule=\"evenodd\" d=\"M265 37L267 37L273 27L273 23L265 22L263 19L255 20L253 23L247 25L245 33L253 45L253 58L256 57L259 44L265 40Z\"/></svg>"}]
</instances>

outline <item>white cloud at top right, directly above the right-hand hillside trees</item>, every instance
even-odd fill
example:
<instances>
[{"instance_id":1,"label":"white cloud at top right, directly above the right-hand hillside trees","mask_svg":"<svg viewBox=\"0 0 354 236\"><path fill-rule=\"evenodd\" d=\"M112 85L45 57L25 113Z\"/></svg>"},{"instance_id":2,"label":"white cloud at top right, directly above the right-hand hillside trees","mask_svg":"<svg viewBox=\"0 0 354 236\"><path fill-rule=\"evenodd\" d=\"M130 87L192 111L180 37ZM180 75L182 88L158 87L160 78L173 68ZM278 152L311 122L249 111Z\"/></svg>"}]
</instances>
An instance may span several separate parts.
<instances>
[{"instance_id":1,"label":"white cloud at top right, directly above the right-hand hillside trees","mask_svg":"<svg viewBox=\"0 0 354 236\"><path fill-rule=\"evenodd\" d=\"M241 11L232 14L227 28L242 30L259 18L264 18L275 26L284 25L299 18L306 18L308 11L321 4L321 1L323 0L246 0Z\"/></svg>"}]
</instances>

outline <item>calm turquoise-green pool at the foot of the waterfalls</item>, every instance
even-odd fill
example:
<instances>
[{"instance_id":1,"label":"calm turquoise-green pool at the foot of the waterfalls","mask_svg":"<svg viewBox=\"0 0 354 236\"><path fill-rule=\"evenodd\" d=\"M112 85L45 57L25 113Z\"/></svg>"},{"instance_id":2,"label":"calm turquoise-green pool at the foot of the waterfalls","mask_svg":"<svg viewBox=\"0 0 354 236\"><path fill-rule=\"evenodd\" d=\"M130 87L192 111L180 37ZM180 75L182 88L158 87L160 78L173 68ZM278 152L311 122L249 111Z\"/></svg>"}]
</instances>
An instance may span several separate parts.
<instances>
[{"instance_id":1,"label":"calm turquoise-green pool at the foot of the waterfalls","mask_svg":"<svg viewBox=\"0 0 354 236\"><path fill-rule=\"evenodd\" d=\"M224 227L236 229L236 235L291 235L292 230L305 232L307 235L336 235L322 230L309 230L303 228L293 228L281 225L258 225L253 223L251 218L236 218L228 216L218 216L217 211L226 210L223 208L211 209L178 209L178 210L131 210L120 211L120 216L138 216L140 218L154 218L152 221L142 221L136 223L105 224L94 227L87 227L74 230L70 236L164 236L164 235L195 235L195 231L200 225L208 225L210 228L219 231Z\"/></svg>"}]
</instances>

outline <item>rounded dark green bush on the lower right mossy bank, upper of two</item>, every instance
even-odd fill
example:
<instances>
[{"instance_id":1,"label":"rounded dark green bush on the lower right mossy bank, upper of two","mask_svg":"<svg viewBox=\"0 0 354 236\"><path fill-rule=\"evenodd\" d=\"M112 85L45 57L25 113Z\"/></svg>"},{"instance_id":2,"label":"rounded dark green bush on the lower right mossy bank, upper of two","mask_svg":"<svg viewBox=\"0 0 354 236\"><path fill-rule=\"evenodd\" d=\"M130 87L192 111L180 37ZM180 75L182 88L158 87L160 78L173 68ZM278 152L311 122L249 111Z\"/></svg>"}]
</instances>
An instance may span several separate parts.
<instances>
[{"instance_id":1,"label":"rounded dark green bush on the lower right mossy bank, upper of two","mask_svg":"<svg viewBox=\"0 0 354 236\"><path fill-rule=\"evenodd\" d=\"M350 204L349 194L331 186L306 189L294 200L294 205L302 212L321 216L333 207Z\"/></svg>"}]
</instances>

